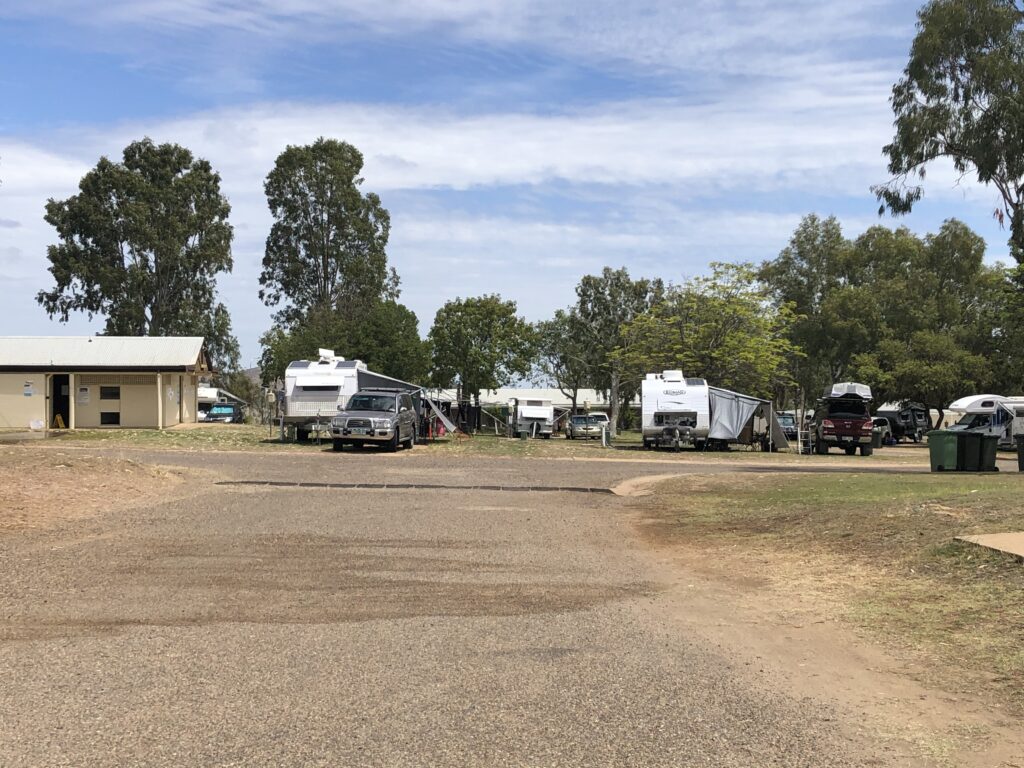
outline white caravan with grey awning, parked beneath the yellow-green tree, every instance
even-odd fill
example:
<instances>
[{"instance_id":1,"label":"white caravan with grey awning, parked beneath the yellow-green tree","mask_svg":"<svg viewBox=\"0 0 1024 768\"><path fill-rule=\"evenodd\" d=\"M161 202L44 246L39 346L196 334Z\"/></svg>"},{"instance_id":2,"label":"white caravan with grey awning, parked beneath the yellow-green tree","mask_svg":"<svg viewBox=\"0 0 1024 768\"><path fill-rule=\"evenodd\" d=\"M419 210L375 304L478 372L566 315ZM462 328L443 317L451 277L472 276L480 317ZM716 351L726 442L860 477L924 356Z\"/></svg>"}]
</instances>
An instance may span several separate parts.
<instances>
[{"instance_id":1,"label":"white caravan with grey awning, parked beneath the yellow-green tree","mask_svg":"<svg viewBox=\"0 0 1024 768\"><path fill-rule=\"evenodd\" d=\"M756 416L769 447L785 449L788 441L771 403L728 389L712 387L703 379L688 379L682 371L647 374L640 384L643 445L682 447L725 446L753 442ZM770 435L770 439L769 439Z\"/></svg>"}]
</instances>

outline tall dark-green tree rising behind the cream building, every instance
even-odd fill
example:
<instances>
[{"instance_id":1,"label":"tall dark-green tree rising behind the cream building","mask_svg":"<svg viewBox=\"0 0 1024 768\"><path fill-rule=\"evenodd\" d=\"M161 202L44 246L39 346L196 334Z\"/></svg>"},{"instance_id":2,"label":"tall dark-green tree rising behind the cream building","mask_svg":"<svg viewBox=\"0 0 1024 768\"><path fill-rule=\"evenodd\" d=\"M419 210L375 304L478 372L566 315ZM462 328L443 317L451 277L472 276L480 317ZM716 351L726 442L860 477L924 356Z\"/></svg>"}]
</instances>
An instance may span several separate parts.
<instances>
[{"instance_id":1,"label":"tall dark-green tree rising behind the cream building","mask_svg":"<svg viewBox=\"0 0 1024 768\"><path fill-rule=\"evenodd\" d=\"M144 138L121 163L100 158L79 193L49 200L47 249L55 286L36 300L51 317L106 317L104 333L204 336L219 368L238 365L216 276L231 270L230 206L220 176L178 144Z\"/></svg>"}]
</instances>

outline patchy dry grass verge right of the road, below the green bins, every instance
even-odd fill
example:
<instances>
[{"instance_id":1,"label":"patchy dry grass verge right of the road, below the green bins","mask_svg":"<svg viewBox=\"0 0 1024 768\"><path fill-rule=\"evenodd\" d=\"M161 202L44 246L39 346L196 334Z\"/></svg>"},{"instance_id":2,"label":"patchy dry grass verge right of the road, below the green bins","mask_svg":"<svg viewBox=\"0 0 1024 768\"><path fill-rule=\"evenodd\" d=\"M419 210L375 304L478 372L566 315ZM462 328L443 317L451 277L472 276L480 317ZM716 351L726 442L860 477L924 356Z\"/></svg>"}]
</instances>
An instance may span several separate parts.
<instances>
[{"instance_id":1,"label":"patchy dry grass verge right of the road, below the green bins","mask_svg":"<svg viewBox=\"0 0 1024 768\"><path fill-rule=\"evenodd\" d=\"M953 541L1024 530L1024 475L757 475L673 481L643 503L659 542L811 600L952 690L1024 712L1024 565Z\"/></svg>"}]
</instances>

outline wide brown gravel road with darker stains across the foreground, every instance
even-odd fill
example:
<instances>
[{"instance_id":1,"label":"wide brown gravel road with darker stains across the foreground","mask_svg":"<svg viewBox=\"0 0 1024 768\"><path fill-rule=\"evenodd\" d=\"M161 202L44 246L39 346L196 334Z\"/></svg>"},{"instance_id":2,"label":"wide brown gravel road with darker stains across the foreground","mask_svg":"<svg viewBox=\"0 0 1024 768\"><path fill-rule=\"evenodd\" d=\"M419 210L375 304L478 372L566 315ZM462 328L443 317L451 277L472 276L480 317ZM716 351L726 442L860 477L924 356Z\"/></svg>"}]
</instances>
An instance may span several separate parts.
<instances>
[{"instance_id":1,"label":"wide brown gravel road with darker stains across the foreground","mask_svg":"<svg viewBox=\"0 0 1024 768\"><path fill-rule=\"evenodd\" d=\"M139 455L214 474L0 538L0 765L886 765L861 724L680 634L629 500L216 484L667 471L421 451Z\"/></svg>"}]
</instances>

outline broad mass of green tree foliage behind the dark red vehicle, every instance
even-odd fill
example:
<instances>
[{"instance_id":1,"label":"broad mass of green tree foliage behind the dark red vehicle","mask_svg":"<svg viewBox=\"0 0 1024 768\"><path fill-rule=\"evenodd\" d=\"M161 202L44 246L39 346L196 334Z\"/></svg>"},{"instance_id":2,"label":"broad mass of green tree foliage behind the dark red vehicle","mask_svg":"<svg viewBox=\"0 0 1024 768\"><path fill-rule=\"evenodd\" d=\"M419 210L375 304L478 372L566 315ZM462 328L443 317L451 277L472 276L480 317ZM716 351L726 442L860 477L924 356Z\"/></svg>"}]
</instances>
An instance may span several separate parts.
<instances>
[{"instance_id":1,"label":"broad mass of green tree foliage behind the dark red vehicle","mask_svg":"<svg viewBox=\"0 0 1024 768\"><path fill-rule=\"evenodd\" d=\"M853 378L879 402L942 410L1000 374L1007 381L1009 342L1024 337L1008 274L984 255L984 241L955 220L924 239L874 226L851 243L834 219L804 219L760 274L776 306L798 313L790 338L806 353L796 366L805 396Z\"/></svg>"}]
</instances>

